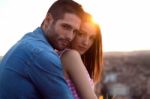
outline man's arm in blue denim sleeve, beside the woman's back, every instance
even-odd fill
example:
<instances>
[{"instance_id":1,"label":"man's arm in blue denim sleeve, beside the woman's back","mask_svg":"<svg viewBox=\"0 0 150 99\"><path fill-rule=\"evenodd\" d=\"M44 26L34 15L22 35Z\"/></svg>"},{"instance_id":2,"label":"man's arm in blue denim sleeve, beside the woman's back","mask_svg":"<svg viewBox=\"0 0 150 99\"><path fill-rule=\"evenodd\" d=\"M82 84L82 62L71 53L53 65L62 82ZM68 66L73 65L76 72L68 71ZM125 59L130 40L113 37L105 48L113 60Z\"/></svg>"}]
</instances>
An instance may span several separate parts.
<instances>
[{"instance_id":1,"label":"man's arm in blue denim sleeve, beside the woman's back","mask_svg":"<svg viewBox=\"0 0 150 99\"><path fill-rule=\"evenodd\" d=\"M43 99L73 99L59 57L53 51L36 53L28 75Z\"/></svg>"}]
</instances>

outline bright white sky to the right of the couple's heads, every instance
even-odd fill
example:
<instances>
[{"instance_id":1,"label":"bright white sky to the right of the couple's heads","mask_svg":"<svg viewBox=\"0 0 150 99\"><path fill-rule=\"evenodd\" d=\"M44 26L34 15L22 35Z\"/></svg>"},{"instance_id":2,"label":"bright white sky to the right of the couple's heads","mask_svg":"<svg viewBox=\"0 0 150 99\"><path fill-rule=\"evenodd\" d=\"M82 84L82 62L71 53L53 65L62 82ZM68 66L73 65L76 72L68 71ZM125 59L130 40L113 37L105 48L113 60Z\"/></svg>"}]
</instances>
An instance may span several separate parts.
<instances>
[{"instance_id":1,"label":"bright white sky to the right of the couple's heads","mask_svg":"<svg viewBox=\"0 0 150 99\"><path fill-rule=\"evenodd\" d=\"M108 1L81 2L101 27L104 51L150 50L147 44L150 42L149 3L145 0Z\"/></svg>"}]
</instances>

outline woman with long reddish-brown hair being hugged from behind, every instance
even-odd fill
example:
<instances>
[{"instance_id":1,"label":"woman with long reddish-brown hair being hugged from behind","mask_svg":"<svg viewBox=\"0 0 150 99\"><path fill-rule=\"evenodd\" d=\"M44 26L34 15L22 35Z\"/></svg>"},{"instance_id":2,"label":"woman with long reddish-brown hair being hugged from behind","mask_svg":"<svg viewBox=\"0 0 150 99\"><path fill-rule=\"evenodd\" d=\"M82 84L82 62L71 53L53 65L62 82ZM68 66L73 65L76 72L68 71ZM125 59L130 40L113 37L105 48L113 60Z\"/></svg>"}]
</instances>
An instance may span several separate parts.
<instances>
[{"instance_id":1,"label":"woman with long reddish-brown hair being hugged from behind","mask_svg":"<svg viewBox=\"0 0 150 99\"><path fill-rule=\"evenodd\" d=\"M75 99L97 99L94 82L99 81L102 70L102 36L91 15L81 24L68 49L61 53L64 75Z\"/></svg>"}]
</instances>

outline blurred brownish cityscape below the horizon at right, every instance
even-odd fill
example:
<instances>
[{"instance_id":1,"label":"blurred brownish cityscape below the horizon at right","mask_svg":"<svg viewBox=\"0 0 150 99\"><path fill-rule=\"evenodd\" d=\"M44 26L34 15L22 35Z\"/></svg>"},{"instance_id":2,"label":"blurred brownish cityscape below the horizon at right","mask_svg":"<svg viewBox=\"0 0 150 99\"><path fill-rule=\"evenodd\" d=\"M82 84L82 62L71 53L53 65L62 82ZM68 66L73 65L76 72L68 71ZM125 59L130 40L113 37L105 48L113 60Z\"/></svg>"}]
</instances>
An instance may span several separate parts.
<instances>
[{"instance_id":1,"label":"blurred brownish cityscape below the horizon at right","mask_svg":"<svg viewBox=\"0 0 150 99\"><path fill-rule=\"evenodd\" d=\"M99 99L150 99L150 51L104 53Z\"/></svg>"}]
</instances>

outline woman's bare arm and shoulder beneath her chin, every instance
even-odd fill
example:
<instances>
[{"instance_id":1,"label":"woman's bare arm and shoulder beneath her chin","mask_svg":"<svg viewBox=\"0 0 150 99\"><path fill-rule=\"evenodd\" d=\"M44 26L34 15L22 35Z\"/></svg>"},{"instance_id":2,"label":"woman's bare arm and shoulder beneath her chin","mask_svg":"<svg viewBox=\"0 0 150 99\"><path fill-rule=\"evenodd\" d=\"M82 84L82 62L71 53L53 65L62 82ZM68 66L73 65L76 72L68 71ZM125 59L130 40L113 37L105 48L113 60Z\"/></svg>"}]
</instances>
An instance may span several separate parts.
<instances>
[{"instance_id":1,"label":"woman's bare arm and shoulder beneath her chin","mask_svg":"<svg viewBox=\"0 0 150 99\"><path fill-rule=\"evenodd\" d=\"M75 50L68 50L63 53L61 60L65 72L67 72L74 83L81 99L97 99L80 54Z\"/></svg>"}]
</instances>

